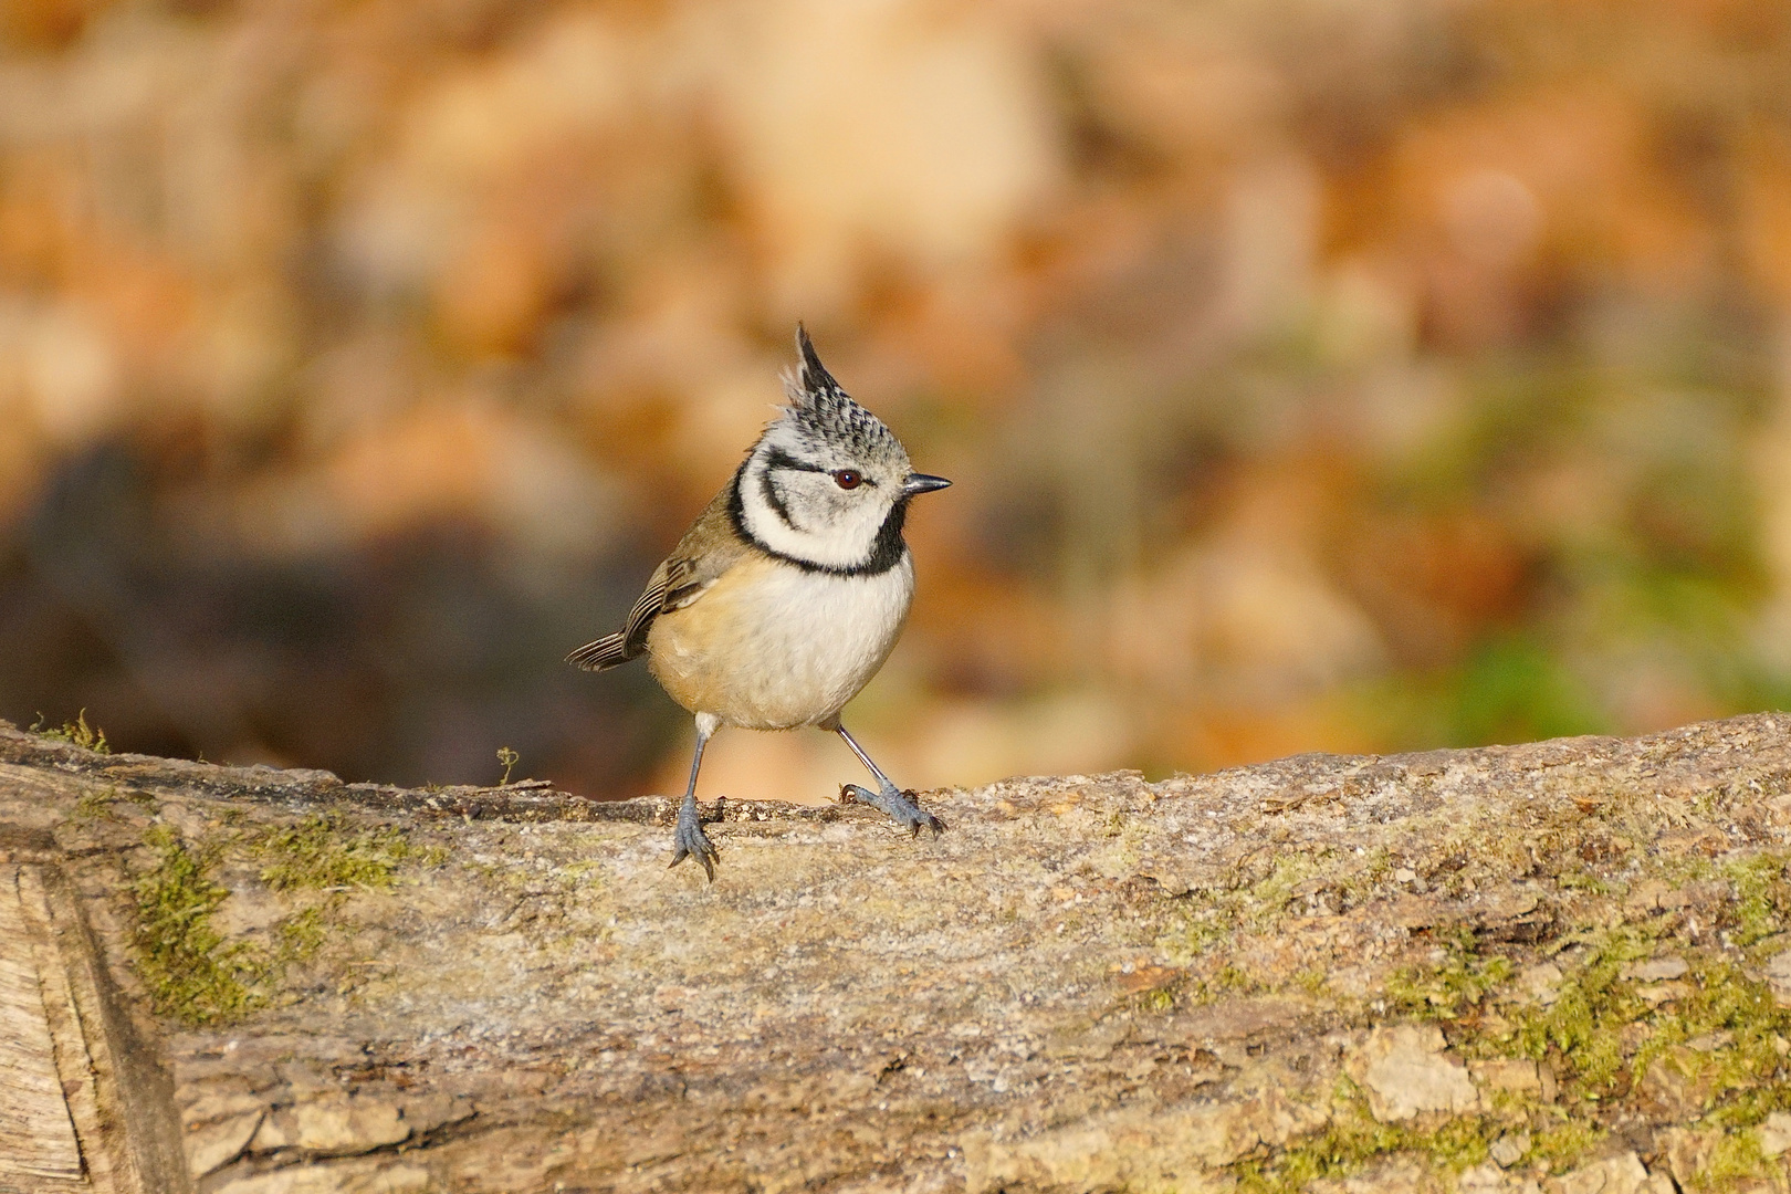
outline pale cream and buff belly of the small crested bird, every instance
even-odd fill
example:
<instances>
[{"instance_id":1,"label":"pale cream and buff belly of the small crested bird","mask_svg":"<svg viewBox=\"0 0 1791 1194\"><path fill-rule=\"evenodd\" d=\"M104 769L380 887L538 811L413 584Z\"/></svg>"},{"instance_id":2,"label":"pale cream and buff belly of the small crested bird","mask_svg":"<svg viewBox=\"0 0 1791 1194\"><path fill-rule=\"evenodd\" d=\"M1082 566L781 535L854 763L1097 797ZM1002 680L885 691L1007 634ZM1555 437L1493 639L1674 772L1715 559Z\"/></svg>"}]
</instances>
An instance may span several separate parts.
<instances>
[{"instance_id":1,"label":"pale cream and buff belly of the small crested bird","mask_svg":"<svg viewBox=\"0 0 1791 1194\"><path fill-rule=\"evenodd\" d=\"M727 725L815 725L878 673L912 598L908 557L878 576L749 560L691 605L654 619L650 666L675 702Z\"/></svg>"}]
</instances>

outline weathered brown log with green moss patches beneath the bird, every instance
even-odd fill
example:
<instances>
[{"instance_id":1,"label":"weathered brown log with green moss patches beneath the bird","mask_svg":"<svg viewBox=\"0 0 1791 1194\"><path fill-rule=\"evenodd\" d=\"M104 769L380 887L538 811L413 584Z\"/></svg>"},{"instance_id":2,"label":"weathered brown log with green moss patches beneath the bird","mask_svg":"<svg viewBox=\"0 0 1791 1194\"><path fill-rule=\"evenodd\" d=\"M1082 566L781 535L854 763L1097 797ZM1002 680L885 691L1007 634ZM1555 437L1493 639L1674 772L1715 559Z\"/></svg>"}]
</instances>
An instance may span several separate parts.
<instances>
[{"instance_id":1,"label":"weathered brown log with green moss patches beneath the bird","mask_svg":"<svg viewBox=\"0 0 1791 1194\"><path fill-rule=\"evenodd\" d=\"M1787 716L922 800L0 723L0 1190L1786 1189Z\"/></svg>"}]
</instances>

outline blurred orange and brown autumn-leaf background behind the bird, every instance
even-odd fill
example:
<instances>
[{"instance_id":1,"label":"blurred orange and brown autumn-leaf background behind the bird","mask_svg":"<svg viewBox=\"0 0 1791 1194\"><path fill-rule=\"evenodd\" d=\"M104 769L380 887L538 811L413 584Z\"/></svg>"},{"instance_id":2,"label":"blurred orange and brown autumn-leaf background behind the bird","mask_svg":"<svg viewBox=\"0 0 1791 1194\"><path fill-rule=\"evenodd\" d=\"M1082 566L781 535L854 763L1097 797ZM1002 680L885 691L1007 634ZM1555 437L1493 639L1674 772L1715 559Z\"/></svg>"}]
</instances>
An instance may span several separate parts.
<instances>
[{"instance_id":1,"label":"blurred orange and brown autumn-leaf background behind the bird","mask_svg":"<svg viewBox=\"0 0 1791 1194\"><path fill-rule=\"evenodd\" d=\"M561 664L797 319L910 784L1791 698L1791 5L0 0L0 716L679 791ZM824 734L704 795L820 800Z\"/></svg>"}]
</instances>

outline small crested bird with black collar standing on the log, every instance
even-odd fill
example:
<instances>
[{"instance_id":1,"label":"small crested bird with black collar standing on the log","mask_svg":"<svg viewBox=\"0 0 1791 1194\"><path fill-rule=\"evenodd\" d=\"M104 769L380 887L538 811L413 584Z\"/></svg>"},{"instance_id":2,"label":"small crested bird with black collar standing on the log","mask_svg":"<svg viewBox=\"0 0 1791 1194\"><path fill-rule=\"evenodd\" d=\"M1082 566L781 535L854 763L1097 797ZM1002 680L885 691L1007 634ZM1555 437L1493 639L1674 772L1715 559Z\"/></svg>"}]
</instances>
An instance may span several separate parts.
<instances>
[{"instance_id":1,"label":"small crested bird with black collar standing on the log","mask_svg":"<svg viewBox=\"0 0 1791 1194\"><path fill-rule=\"evenodd\" d=\"M802 324L788 403L654 569L621 630L566 662L607 671L647 655L659 686L697 720L697 752L672 834L672 866L718 854L697 814L702 752L724 725L838 734L878 782L842 798L937 838L946 823L897 788L840 721L840 709L896 648L913 601L903 541L908 503L951 485L915 473L908 449L847 396Z\"/></svg>"}]
</instances>

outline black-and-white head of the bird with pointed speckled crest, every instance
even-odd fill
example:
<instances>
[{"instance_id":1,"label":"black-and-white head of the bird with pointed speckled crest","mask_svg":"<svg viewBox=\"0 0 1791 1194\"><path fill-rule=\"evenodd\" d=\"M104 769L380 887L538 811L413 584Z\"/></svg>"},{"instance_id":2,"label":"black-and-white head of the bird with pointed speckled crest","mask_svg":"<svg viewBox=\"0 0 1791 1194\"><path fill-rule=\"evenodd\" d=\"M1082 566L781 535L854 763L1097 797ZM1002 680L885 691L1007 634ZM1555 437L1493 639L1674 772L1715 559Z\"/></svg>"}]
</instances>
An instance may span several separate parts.
<instances>
[{"instance_id":1,"label":"black-and-white head of the bird with pointed speckled crest","mask_svg":"<svg viewBox=\"0 0 1791 1194\"><path fill-rule=\"evenodd\" d=\"M797 326L790 405L734 474L734 528L810 571L874 575L908 551L908 499L951 482L915 473L883 421L854 403Z\"/></svg>"}]
</instances>

